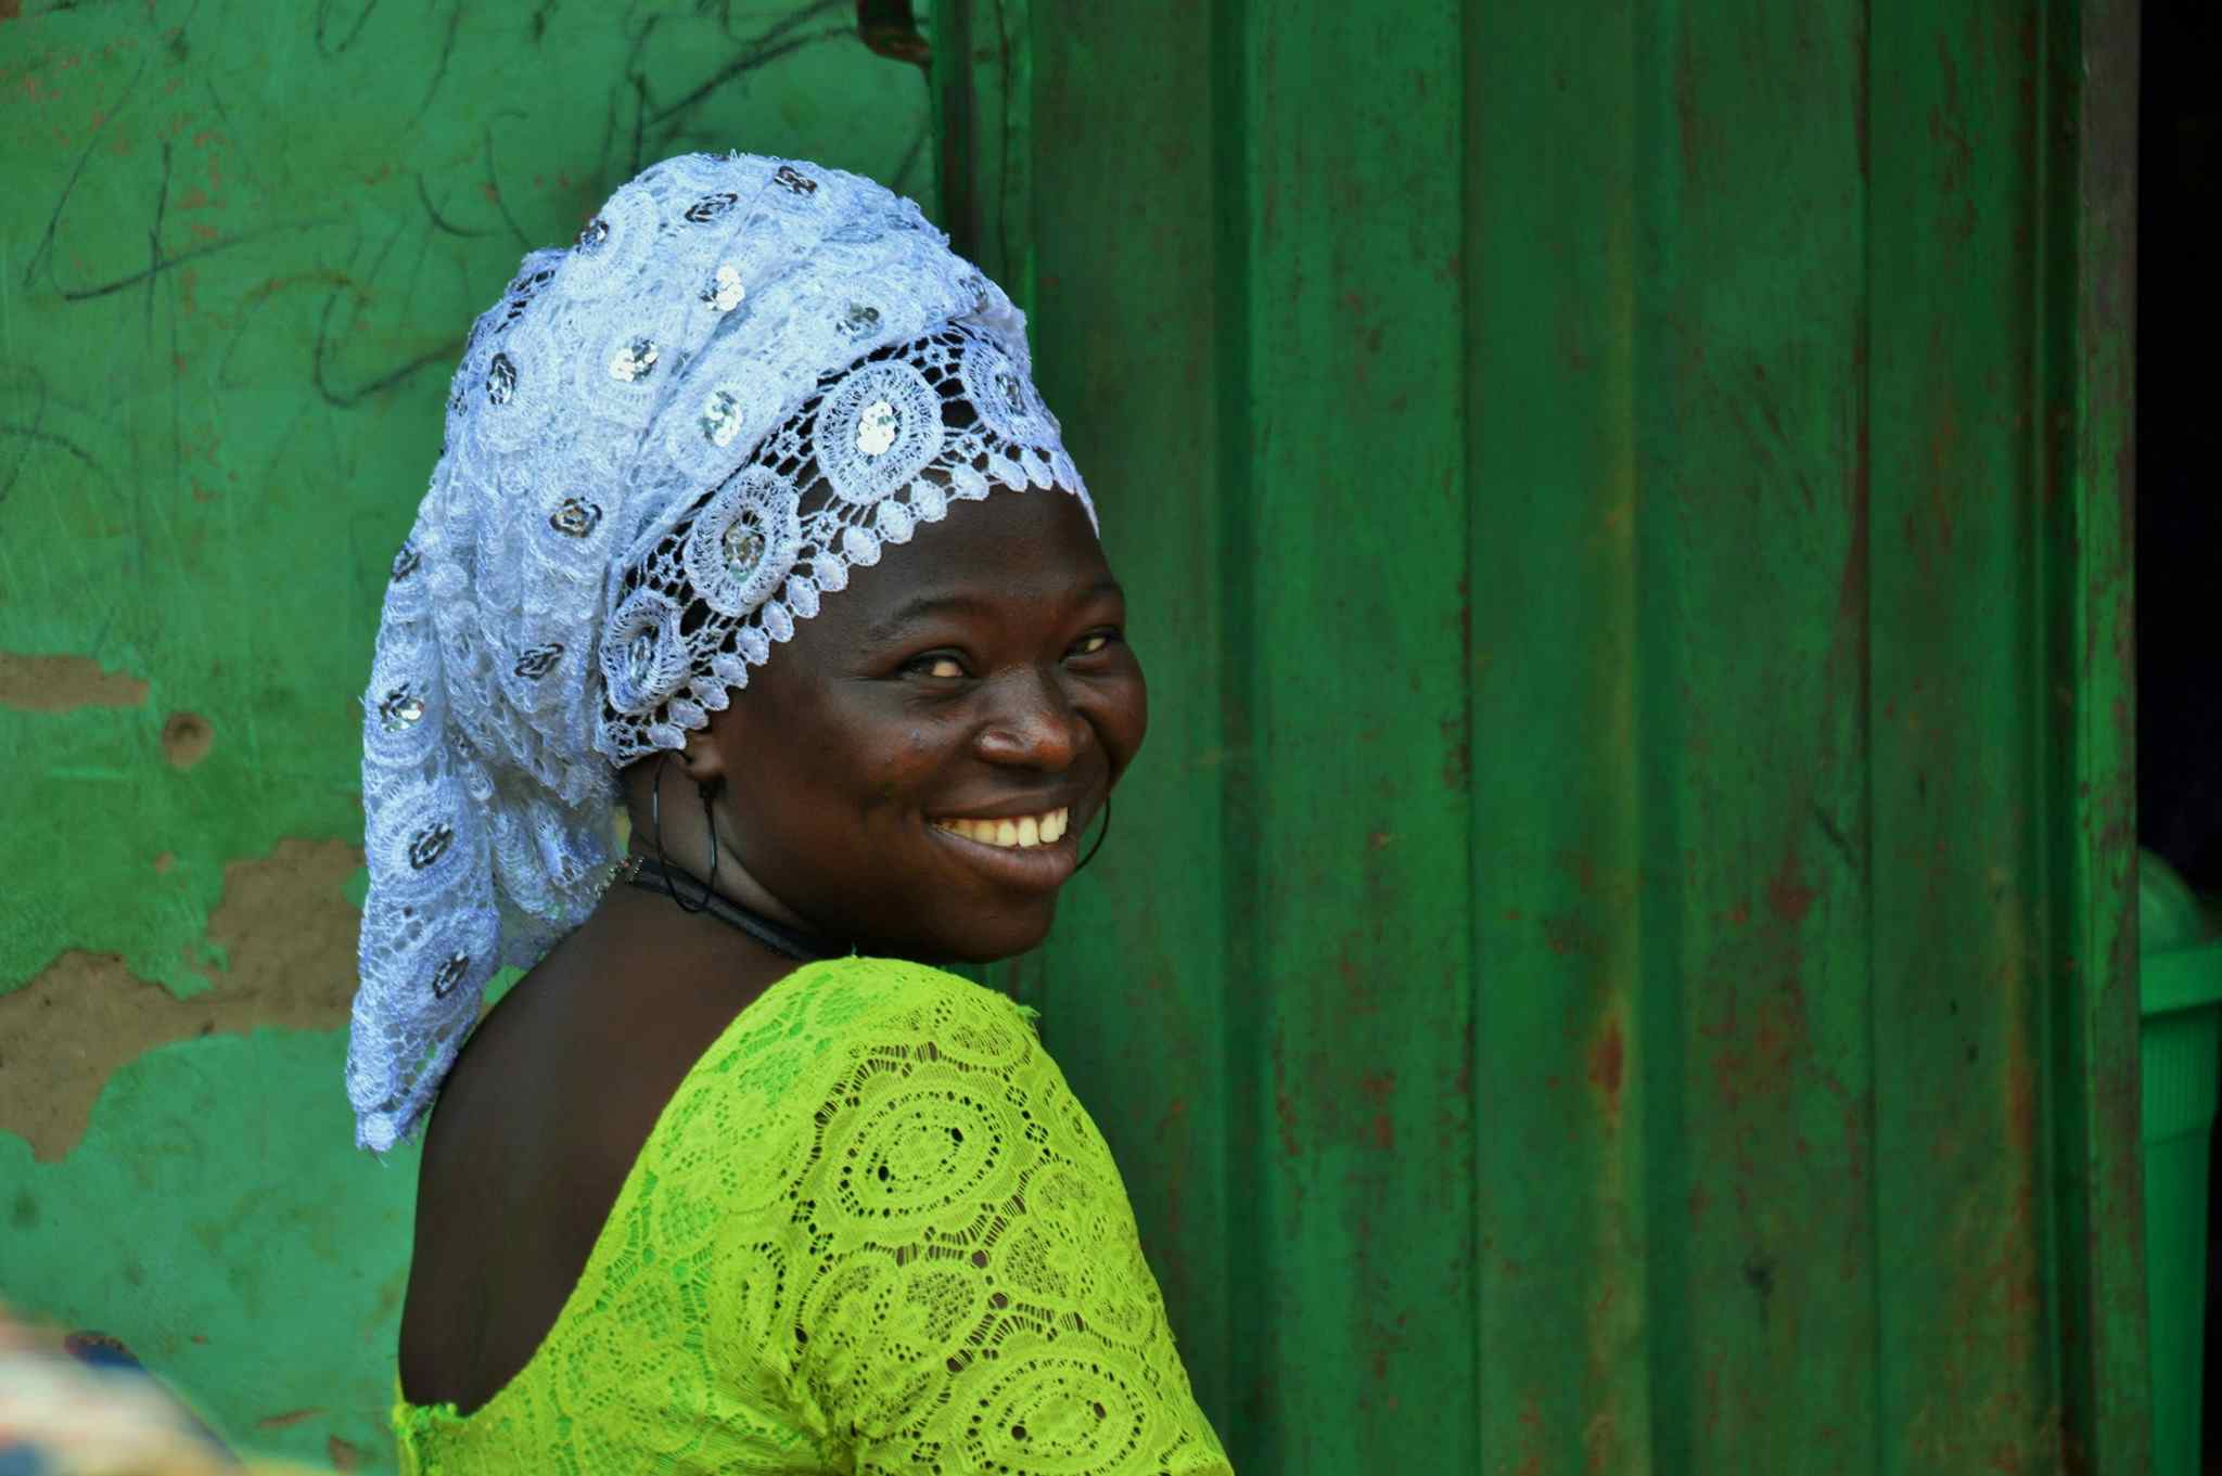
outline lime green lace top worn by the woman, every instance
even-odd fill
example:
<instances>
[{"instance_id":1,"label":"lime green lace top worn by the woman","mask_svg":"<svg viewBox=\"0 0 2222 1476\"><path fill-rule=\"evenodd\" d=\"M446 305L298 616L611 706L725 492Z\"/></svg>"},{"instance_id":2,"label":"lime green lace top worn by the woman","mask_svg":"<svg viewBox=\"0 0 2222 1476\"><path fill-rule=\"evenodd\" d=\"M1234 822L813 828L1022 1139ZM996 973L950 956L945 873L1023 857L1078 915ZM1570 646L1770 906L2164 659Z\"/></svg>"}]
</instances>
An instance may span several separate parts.
<instances>
[{"instance_id":1,"label":"lime green lace top worn by the woman","mask_svg":"<svg viewBox=\"0 0 2222 1476\"><path fill-rule=\"evenodd\" d=\"M687 1072L538 1352L402 1472L1231 1476L1029 1012L811 963Z\"/></svg>"}]
</instances>

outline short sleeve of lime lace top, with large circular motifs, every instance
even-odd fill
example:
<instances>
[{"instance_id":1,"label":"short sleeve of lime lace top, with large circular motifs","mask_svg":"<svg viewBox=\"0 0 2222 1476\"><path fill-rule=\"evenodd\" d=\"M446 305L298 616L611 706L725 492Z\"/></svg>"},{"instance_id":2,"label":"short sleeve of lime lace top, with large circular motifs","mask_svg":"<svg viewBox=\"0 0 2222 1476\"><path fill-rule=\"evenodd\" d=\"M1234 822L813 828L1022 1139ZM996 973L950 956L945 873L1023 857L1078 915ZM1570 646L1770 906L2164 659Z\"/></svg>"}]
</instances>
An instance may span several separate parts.
<instances>
[{"instance_id":1,"label":"short sleeve of lime lace top, with large circular motifs","mask_svg":"<svg viewBox=\"0 0 2222 1476\"><path fill-rule=\"evenodd\" d=\"M713 1363L858 1476L1229 1474L1111 1150L1027 1014L924 966L813 972L791 1065L707 1094L778 1123L718 1154L740 1212Z\"/></svg>"}]
</instances>

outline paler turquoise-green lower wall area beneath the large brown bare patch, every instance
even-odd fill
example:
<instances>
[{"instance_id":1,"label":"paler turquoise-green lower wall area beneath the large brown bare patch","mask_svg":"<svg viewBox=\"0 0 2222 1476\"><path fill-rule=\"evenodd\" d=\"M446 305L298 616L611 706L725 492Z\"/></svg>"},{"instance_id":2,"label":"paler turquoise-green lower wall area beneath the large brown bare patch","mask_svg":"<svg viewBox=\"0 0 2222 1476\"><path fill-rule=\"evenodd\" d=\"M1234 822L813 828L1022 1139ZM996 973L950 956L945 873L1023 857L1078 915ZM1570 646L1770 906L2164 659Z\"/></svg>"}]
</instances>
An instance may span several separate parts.
<instances>
[{"instance_id":1,"label":"paler turquoise-green lower wall area beneath the large brown bare patch","mask_svg":"<svg viewBox=\"0 0 2222 1476\"><path fill-rule=\"evenodd\" d=\"M0 1132L0 1281L118 1336L242 1449L313 1467L340 1438L391 1469L416 1154L344 1148L344 1050L338 1030L171 1041L109 1076L60 1163Z\"/></svg>"}]
</instances>

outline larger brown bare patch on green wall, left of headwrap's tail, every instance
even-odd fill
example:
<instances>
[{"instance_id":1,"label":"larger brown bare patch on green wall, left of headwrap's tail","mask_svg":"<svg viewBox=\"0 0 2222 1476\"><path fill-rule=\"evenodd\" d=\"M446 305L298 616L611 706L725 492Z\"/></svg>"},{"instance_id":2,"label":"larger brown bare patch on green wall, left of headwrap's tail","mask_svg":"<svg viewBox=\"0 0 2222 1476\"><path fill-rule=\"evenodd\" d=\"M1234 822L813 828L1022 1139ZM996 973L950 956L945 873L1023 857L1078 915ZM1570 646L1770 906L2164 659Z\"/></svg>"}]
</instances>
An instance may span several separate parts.
<instances>
[{"instance_id":1,"label":"larger brown bare patch on green wall, left of headwrap's tail","mask_svg":"<svg viewBox=\"0 0 2222 1476\"><path fill-rule=\"evenodd\" d=\"M58 1163L84 1136L116 1068L204 1034L336 1030L356 992L362 914L342 888L362 866L347 841L280 841L224 868L209 941L229 963L196 968L216 985L176 999L118 954L64 950L31 983L0 994L0 1072L9 1130Z\"/></svg>"}]
</instances>

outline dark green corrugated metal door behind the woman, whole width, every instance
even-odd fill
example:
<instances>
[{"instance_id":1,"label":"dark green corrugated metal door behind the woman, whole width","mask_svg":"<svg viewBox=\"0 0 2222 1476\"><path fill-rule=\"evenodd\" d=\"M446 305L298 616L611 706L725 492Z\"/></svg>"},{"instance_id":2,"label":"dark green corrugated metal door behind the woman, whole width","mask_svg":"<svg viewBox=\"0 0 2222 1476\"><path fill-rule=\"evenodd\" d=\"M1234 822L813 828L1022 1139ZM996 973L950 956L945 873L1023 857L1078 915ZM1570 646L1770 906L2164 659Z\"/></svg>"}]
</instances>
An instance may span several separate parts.
<instances>
[{"instance_id":1,"label":"dark green corrugated metal door behind the woman, whole width","mask_svg":"<svg viewBox=\"0 0 2222 1476\"><path fill-rule=\"evenodd\" d=\"M935 11L1155 730L1015 988L1247 1476L2142 1472L2133 11Z\"/></svg>"}]
</instances>

